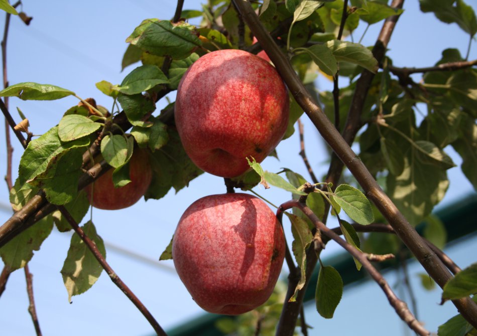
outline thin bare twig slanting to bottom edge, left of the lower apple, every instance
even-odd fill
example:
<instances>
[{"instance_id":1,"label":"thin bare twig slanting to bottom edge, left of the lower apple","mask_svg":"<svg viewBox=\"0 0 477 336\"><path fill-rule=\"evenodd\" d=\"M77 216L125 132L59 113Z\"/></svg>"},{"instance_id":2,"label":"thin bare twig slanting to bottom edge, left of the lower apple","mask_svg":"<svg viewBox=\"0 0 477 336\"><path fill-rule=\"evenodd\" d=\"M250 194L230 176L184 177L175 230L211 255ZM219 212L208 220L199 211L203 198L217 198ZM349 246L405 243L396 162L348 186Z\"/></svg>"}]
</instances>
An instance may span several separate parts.
<instances>
[{"instance_id":1,"label":"thin bare twig slanting to bottom edge, left of the lower apple","mask_svg":"<svg viewBox=\"0 0 477 336\"><path fill-rule=\"evenodd\" d=\"M81 238L84 244L88 247L88 249L93 253L96 260L102 266L102 268L106 271L107 275L111 281L121 289L123 293L134 303L134 305L141 311L141 313L146 317L146 319L151 323L154 330L157 332L158 335L165 336L167 335L166 332L162 329L159 323L156 321L154 316L149 312L149 310L144 306L144 304L139 300L139 298L131 291L131 289L121 280L121 278L113 271L113 269L109 266L106 262L104 257L102 256L101 252L96 247L96 244L84 233L84 231L78 226L78 223L74 220L74 218L68 213L64 206L58 206L58 210L61 214L65 217L68 223L71 225L73 230L76 234Z\"/></svg>"}]
</instances>

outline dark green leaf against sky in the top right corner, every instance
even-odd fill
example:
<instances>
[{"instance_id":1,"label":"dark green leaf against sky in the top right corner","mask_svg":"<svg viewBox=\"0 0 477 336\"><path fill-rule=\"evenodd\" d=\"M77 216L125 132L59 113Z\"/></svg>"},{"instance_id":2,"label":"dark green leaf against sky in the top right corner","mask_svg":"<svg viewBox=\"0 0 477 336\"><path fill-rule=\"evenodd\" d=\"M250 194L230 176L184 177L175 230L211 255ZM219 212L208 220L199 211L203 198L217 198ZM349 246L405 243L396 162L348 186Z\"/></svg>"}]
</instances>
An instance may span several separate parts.
<instances>
[{"instance_id":1,"label":"dark green leaf against sky in the top right corner","mask_svg":"<svg viewBox=\"0 0 477 336\"><path fill-rule=\"evenodd\" d=\"M454 7L453 4L456 4ZM472 7L462 0L419 0L421 11L424 13L433 12L437 19L447 24L456 23L470 36L477 32L477 19Z\"/></svg>"}]
</instances>

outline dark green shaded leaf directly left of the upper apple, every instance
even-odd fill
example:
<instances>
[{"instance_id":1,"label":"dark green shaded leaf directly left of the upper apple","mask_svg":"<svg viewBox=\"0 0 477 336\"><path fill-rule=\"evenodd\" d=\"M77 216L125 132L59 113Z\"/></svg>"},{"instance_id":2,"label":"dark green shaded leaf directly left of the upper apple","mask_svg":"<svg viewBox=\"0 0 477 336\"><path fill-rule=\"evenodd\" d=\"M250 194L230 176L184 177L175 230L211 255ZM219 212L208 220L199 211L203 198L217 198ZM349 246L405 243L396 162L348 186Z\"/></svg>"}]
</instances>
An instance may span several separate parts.
<instances>
[{"instance_id":1,"label":"dark green shaded leaf directly left of the upper apple","mask_svg":"<svg viewBox=\"0 0 477 336\"><path fill-rule=\"evenodd\" d=\"M150 99L147 99L142 94L127 95L120 93L117 96L117 101L123 107L129 122L133 126L150 126L148 122L143 119L156 109L156 104Z\"/></svg>"}]
</instances>

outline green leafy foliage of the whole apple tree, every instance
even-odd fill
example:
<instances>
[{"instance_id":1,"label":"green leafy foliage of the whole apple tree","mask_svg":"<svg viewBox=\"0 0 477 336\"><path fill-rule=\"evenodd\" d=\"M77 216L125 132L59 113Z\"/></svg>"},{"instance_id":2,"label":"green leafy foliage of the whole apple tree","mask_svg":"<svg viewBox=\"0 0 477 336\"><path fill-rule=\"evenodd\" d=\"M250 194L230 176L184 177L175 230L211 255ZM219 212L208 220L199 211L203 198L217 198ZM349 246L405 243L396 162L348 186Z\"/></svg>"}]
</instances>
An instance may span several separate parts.
<instances>
[{"instance_id":1,"label":"green leafy foliage of the whole apple tree","mask_svg":"<svg viewBox=\"0 0 477 336\"><path fill-rule=\"evenodd\" d=\"M473 9L462 0L420 0L420 9L446 24L457 24L471 41L477 33ZM346 6L343 19L343 6ZM338 130L343 130L359 78L365 71L374 75L367 90L356 137L357 155L368 167L394 204L413 226L426 223L424 236L437 247L445 244L445 229L431 215L449 186L447 170L455 163L446 153L449 146L461 158L461 170L477 189L477 70L456 49L443 49L442 57L428 69L397 68L387 56L379 61L372 49L348 38L359 25L382 24L399 17L403 9L387 1L365 0L263 0L253 8L265 29L271 33L283 55L291 62L301 81L314 91L317 76L339 78L339 108L332 91L319 91L316 99ZM16 14L8 2L0 8ZM200 26L188 19L200 17ZM18 178L10 191L15 211L29 206L39 193L48 203L65 206L77 223L83 221L89 204L78 188L90 156L101 154L113 169L115 186L128 184L128 161L135 143L150 149L153 169L152 183L144 195L146 200L160 199L173 188L176 192L200 176L200 171L182 148L174 126L174 103L162 111L156 102L177 90L188 67L209 51L240 48L257 53L250 28L229 0L208 0L201 11L183 10L181 19L146 19L132 27L123 58L123 69L135 65L120 84L96 83L97 89L111 98L114 109L107 111L80 97L80 103L64 112L50 130L32 139L22 155ZM399 29L399 21L398 27ZM470 46L470 44L469 44ZM409 75L421 73L420 82ZM344 84L343 84L344 83ZM74 88L71 88L74 90ZM0 92L2 97L23 100L53 100L76 96L74 91L55 85L18 83ZM77 96L76 96L77 97ZM284 138L295 132L296 122L303 114L290 94L290 120ZM21 116L23 114L21 113ZM98 145L99 144L99 145ZM276 153L275 153L276 154ZM262 184L265 188L281 188L290 198L305 199L318 218L344 212L360 225L385 223L386 220L368 201L352 176L345 174L336 186L311 181L301 172L284 169L264 171L253 157L247 158L251 170L231 179L236 188L248 191ZM314 190L306 188L311 182ZM83 186L84 187L84 186ZM287 200L284 200L287 201ZM289 298L293 301L306 283L306 251L313 247L314 227L299 209L286 215L290 219L295 262L301 270L300 279ZM354 227L339 220L344 239L355 249L367 253L397 253L402 243L392 235L370 233L358 235ZM36 224L2 244L0 255L10 271L24 267L48 237L53 225L64 232L71 229L59 211L52 211ZM91 221L83 230L105 256L102 239ZM385 242L385 243L384 243ZM65 251L61 274L71 299L88 290L101 274L102 268L76 236ZM170 258L170 246L161 259ZM354 259L358 271L362 263ZM77 266L82 267L78 274ZM362 271L362 270L361 270ZM423 284L429 282L423 276ZM262 332L273 333L285 300L282 282L269 302L239 319L224 318L217 326L226 332L248 334L261 320ZM477 293L477 268L473 264L458 273L443 289L442 300L457 299ZM342 295L342 280L331 265L322 265L316 287L316 307L320 315L333 316ZM474 297L475 300L475 297ZM257 317L259 316L259 317ZM476 330L460 314L439 327L439 335L475 334Z\"/></svg>"}]
</instances>

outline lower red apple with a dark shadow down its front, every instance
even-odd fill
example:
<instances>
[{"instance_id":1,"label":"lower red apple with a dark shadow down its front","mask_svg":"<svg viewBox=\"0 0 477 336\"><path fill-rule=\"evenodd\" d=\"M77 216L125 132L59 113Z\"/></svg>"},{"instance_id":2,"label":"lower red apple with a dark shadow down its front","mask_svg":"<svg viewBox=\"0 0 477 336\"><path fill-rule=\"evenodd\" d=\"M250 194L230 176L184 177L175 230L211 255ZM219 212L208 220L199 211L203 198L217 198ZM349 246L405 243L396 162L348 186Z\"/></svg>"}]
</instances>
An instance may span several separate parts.
<instances>
[{"instance_id":1,"label":"lower red apple with a dark shadow down its front","mask_svg":"<svg viewBox=\"0 0 477 336\"><path fill-rule=\"evenodd\" d=\"M285 238L261 199L203 197L184 212L172 240L180 279L204 310L237 315L263 304L282 269Z\"/></svg>"}]
</instances>

